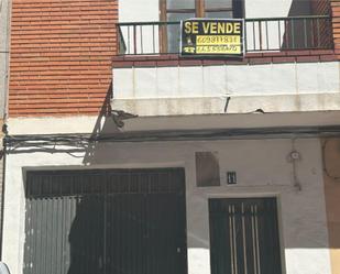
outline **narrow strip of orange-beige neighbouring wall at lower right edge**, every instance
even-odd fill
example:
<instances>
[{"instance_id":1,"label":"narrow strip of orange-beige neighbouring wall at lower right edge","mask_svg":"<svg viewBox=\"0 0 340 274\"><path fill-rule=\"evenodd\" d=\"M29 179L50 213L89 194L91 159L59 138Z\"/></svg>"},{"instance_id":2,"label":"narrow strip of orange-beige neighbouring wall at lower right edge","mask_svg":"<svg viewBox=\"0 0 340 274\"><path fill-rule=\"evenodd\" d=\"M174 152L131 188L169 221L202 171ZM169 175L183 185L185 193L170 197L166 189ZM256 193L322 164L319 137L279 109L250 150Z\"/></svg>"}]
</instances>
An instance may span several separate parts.
<instances>
[{"instance_id":1,"label":"narrow strip of orange-beige neighbouring wall at lower right edge","mask_svg":"<svg viewBox=\"0 0 340 274\"><path fill-rule=\"evenodd\" d=\"M323 182L332 273L340 273L340 139L323 139Z\"/></svg>"}]
</instances>

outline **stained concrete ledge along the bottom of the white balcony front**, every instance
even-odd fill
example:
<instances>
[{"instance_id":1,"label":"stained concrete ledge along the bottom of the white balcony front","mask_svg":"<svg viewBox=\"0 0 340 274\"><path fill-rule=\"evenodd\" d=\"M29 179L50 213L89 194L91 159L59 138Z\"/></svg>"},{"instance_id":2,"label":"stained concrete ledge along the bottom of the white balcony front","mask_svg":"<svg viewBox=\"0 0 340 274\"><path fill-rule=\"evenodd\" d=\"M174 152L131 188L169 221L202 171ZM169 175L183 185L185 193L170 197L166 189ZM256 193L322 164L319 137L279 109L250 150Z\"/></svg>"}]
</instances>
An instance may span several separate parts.
<instances>
[{"instance_id":1,"label":"stained concrete ledge along the bottom of the white balcony front","mask_svg":"<svg viewBox=\"0 0 340 274\"><path fill-rule=\"evenodd\" d=\"M112 108L140 117L340 110L340 94L113 99Z\"/></svg>"}]
</instances>

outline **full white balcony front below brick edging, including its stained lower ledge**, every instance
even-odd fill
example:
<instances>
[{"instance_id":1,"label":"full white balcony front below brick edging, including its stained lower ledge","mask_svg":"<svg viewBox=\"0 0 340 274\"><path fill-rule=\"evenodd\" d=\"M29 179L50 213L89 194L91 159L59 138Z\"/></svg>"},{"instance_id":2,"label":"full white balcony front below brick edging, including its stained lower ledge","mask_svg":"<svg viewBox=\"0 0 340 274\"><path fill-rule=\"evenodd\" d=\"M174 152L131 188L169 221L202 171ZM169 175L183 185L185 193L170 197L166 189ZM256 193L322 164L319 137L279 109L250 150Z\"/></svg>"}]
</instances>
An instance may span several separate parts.
<instances>
[{"instance_id":1,"label":"full white balcony front below brick edging, including its stained lower ledge","mask_svg":"<svg viewBox=\"0 0 340 274\"><path fill-rule=\"evenodd\" d=\"M113 69L113 109L139 116L340 110L339 62Z\"/></svg>"}]
</instances>

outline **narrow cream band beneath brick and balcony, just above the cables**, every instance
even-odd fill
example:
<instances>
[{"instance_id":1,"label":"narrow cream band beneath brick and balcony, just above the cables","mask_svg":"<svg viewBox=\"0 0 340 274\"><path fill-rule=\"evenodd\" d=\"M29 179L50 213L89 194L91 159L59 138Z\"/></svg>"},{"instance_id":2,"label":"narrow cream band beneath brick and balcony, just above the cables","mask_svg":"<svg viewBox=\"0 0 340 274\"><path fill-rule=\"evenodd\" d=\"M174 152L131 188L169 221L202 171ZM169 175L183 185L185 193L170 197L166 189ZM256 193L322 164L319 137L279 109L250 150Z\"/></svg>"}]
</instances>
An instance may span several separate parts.
<instances>
[{"instance_id":1,"label":"narrow cream band beneath brick and balcony, just above the cables","mask_svg":"<svg viewBox=\"0 0 340 274\"><path fill-rule=\"evenodd\" d=\"M340 111L300 113L248 113L186 117L140 117L124 121L121 132L155 130L200 130L270 127L326 127L340 121ZM113 120L97 117L10 118L9 134L76 134L96 132L114 133Z\"/></svg>"}]
</instances>

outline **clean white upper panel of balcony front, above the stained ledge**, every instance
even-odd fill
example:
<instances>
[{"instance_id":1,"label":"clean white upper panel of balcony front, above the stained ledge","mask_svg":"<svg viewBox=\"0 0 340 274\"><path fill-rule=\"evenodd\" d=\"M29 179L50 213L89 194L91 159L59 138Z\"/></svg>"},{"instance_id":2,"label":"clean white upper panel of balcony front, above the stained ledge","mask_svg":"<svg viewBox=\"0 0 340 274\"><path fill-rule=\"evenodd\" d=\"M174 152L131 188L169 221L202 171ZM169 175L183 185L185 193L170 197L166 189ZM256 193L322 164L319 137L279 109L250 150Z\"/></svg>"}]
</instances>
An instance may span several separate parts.
<instances>
[{"instance_id":1,"label":"clean white upper panel of balcony front, above the stained ledge","mask_svg":"<svg viewBox=\"0 0 340 274\"><path fill-rule=\"evenodd\" d=\"M114 99L339 92L339 63L113 69Z\"/></svg>"}]
</instances>

